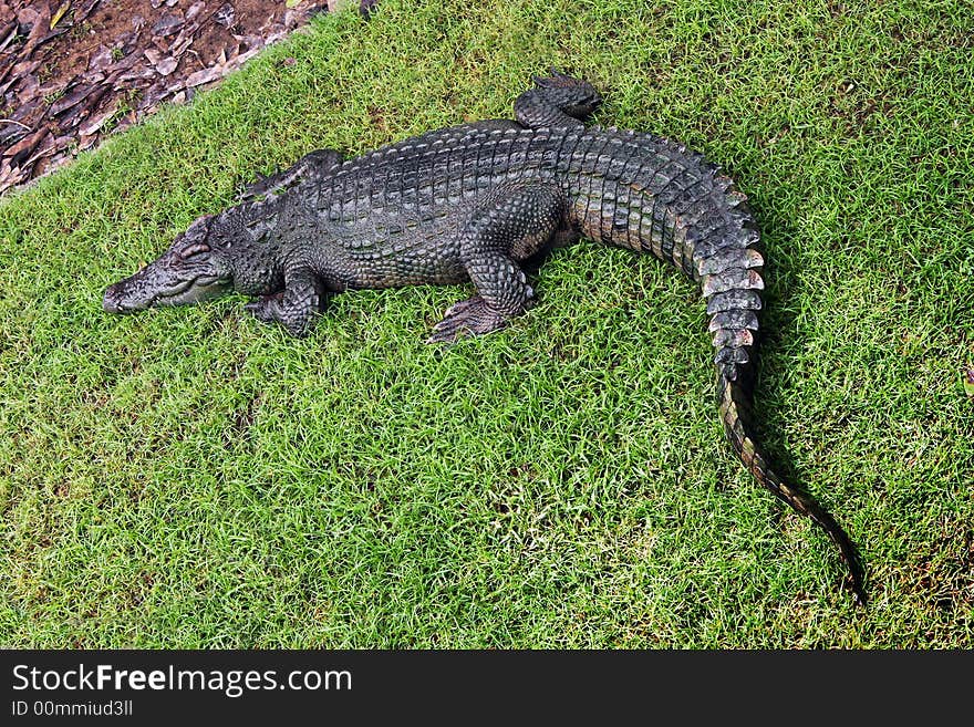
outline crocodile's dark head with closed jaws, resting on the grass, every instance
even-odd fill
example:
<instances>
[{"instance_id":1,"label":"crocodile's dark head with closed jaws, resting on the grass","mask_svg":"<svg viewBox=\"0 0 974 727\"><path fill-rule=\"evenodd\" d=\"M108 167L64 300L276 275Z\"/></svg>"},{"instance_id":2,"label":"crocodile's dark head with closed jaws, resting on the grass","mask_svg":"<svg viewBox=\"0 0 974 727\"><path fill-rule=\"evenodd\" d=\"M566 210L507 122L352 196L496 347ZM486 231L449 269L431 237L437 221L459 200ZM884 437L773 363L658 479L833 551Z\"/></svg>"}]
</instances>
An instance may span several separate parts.
<instances>
[{"instance_id":1,"label":"crocodile's dark head with closed jaws, resting on the grass","mask_svg":"<svg viewBox=\"0 0 974 727\"><path fill-rule=\"evenodd\" d=\"M186 305L229 292L234 270L217 245L215 218L200 217L155 262L105 290L110 313L129 313L155 305Z\"/></svg>"}]
</instances>

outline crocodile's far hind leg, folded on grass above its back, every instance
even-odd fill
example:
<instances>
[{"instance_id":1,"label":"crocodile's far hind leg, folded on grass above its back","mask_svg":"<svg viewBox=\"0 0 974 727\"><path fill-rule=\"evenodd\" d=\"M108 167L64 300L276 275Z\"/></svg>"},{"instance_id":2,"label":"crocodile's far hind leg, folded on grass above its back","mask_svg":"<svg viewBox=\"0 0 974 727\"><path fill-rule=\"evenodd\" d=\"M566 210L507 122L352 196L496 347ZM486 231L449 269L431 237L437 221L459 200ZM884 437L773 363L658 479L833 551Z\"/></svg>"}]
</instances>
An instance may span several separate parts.
<instances>
[{"instance_id":1,"label":"crocodile's far hind leg, folded on grass above its back","mask_svg":"<svg viewBox=\"0 0 974 727\"><path fill-rule=\"evenodd\" d=\"M602 97L589 83L551 70L547 79L535 76L535 87L514 102L518 122L528 128L582 126Z\"/></svg>"}]
</instances>

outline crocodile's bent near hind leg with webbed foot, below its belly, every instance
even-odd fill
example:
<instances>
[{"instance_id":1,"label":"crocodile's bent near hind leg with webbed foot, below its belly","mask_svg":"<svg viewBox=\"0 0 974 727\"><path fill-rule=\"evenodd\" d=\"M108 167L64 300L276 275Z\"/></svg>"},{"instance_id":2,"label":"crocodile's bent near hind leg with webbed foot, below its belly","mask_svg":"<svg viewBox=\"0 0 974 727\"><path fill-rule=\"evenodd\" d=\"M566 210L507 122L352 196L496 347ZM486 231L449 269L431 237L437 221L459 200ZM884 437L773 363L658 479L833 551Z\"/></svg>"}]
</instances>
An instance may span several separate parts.
<instances>
[{"instance_id":1,"label":"crocodile's bent near hind leg with webbed foot, below its belly","mask_svg":"<svg viewBox=\"0 0 974 727\"><path fill-rule=\"evenodd\" d=\"M427 343L489 333L524 313L535 292L520 263L556 236L563 212L559 190L543 184L507 185L480 205L460 232L460 257L477 294L450 307Z\"/></svg>"}]
</instances>

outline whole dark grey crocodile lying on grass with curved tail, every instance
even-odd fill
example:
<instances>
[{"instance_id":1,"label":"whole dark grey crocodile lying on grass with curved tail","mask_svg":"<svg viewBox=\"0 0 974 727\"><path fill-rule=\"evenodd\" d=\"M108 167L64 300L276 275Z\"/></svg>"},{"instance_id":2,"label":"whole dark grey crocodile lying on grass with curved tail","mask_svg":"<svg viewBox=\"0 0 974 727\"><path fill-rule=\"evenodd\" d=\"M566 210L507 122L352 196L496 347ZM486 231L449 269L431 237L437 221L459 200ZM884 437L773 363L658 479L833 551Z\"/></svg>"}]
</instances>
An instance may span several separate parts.
<instances>
[{"instance_id":1,"label":"whole dark grey crocodile lying on grass with curved tail","mask_svg":"<svg viewBox=\"0 0 974 727\"><path fill-rule=\"evenodd\" d=\"M346 290L473 283L429 342L504 328L535 292L526 264L586 238L649 252L696 281L716 350L731 445L754 478L838 546L853 600L858 552L829 512L787 484L758 445L754 373L764 256L746 196L701 153L649 133L587 126L601 104L588 82L551 71L514 104L515 120L462 124L354 158L333 149L244 189L158 260L110 285L105 311L195 303L236 291L296 336Z\"/></svg>"}]
</instances>

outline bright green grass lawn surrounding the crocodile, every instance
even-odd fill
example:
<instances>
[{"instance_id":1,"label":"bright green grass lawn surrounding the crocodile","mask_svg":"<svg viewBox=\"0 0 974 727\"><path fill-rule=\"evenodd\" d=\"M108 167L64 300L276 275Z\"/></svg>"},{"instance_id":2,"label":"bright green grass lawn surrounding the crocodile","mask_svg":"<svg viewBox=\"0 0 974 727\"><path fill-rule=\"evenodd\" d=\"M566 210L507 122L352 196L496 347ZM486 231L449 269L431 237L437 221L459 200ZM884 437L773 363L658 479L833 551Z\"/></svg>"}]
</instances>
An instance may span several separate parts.
<instances>
[{"instance_id":1,"label":"bright green grass lawn surrounding the crocodile","mask_svg":"<svg viewBox=\"0 0 974 727\"><path fill-rule=\"evenodd\" d=\"M652 4L324 18L0 204L0 644L974 645L967 3ZM339 297L301 341L240 299L102 312L256 172L509 116L549 65L750 197L761 428L868 611L732 456L700 295L651 258L560 250L448 350L466 289Z\"/></svg>"}]
</instances>

